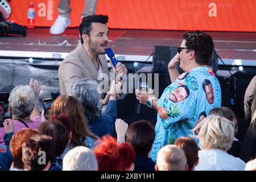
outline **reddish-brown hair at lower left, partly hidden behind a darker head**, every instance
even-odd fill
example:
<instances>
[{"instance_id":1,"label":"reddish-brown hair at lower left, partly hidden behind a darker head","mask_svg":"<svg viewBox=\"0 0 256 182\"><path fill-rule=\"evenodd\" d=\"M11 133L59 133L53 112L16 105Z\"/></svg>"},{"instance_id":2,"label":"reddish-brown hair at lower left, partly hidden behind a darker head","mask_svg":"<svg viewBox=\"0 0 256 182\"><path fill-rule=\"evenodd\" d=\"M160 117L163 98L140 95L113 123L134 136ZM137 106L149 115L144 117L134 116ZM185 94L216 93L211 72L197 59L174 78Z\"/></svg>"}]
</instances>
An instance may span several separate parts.
<instances>
[{"instance_id":1,"label":"reddish-brown hair at lower left, partly hidden behind a darker head","mask_svg":"<svg viewBox=\"0 0 256 182\"><path fill-rule=\"evenodd\" d=\"M38 134L40 134L38 130L24 128L13 135L10 141L10 151L11 155L13 155L15 168L23 169L22 144L26 142L27 139Z\"/></svg>"}]
</instances>

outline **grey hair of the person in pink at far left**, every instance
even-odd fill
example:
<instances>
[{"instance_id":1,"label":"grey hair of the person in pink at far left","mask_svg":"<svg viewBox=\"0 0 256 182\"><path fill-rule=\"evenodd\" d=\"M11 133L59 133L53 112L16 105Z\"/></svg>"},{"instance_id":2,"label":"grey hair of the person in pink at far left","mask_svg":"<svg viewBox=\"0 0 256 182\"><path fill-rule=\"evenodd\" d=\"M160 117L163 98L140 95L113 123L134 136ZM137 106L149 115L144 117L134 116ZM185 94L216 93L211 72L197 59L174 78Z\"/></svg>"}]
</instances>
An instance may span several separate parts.
<instances>
[{"instance_id":1,"label":"grey hair of the person in pink at far left","mask_svg":"<svg viewBox=\"0 0 256 182\"><path fill-rule=\"evenodd\" d=\"M11 113L20 118L29 116L34 109L34 101L35 94L30 86L16 86L13 90L11 90L9 97Z\"/></svg>"}]
</instances>

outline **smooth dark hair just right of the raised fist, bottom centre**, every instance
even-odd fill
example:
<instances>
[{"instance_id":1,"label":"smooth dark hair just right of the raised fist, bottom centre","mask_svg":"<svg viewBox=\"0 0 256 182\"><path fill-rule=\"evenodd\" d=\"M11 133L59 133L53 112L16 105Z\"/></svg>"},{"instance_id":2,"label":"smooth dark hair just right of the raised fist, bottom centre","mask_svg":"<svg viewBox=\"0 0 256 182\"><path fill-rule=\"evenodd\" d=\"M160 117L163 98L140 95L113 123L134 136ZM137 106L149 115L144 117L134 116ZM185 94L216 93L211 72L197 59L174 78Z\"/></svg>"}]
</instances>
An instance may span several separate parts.
<instances>
[{"instance_id":1,"label":"smooth dark hair just right of the raised fist, bottom centre","mask_svg":"<svg viewBox=\"0 0 256 182\"><path fill-rule=\"evenodd\" d=\"M155 139L154 126L146 121L131 123L126 132L126 142L130 143L137 155L147 156Z\"/></svg>"}]
</instances>

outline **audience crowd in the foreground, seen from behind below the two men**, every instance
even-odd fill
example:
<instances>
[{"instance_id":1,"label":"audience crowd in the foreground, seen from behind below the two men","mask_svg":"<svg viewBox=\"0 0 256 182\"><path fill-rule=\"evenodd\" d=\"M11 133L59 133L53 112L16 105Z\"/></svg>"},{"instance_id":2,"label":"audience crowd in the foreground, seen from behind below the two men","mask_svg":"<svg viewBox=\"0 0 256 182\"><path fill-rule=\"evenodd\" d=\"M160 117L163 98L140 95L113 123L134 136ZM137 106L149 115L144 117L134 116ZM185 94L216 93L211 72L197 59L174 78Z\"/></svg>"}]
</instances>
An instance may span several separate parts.
<instances>
[{"instance_id":1,"label":"audience crowd in the foreground, seen from behind below the two men","mask_svg":"<svg viewBox=\"0 0 256 182\"><path fill-rule=\"evenodd\" d=\"M105 113L101 110L97 82L82 78L73 86L73 95L56 98L49 119L44 117L44 110L40 114L36 105L38 81L31 79L30 86L16 86L9 98L11 118L5 119L4 127L0 128L0 169L256 170L255 153L241 159L243 141L235 137L237 119L228 107L210 110L191 130L192 135L161 147L154 162L150 157L156 136L154 126L146 120L128 126L117 118L118 94L114 93L113 84ZM255 114L251 125L255 123Z\"/></svg>"}]
</instances>

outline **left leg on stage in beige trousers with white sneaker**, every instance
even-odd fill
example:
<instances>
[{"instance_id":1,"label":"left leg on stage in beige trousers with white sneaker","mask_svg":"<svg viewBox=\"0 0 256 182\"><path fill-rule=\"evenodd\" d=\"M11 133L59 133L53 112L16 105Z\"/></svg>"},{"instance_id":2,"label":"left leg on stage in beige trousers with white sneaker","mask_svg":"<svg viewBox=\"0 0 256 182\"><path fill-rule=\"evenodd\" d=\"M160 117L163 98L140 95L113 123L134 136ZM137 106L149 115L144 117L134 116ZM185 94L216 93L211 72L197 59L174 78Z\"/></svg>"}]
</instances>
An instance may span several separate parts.
<instances>
[{"instance_id":1,"label":"left leg on stage in beige trousers with white sneaker","mask_svg":"<svg viewBox=\"0 0 256 182\"><path fill-rule=\"evenodd\" d=\"M59 11L59 16L49 31L52 35L62 34L71 24L70 13L72 10L70 7L70 0L60 0L57 10Z\"/></svg>"}]
</instances>

